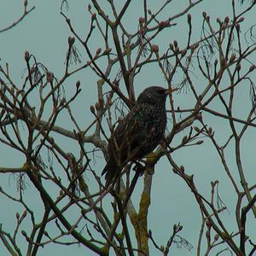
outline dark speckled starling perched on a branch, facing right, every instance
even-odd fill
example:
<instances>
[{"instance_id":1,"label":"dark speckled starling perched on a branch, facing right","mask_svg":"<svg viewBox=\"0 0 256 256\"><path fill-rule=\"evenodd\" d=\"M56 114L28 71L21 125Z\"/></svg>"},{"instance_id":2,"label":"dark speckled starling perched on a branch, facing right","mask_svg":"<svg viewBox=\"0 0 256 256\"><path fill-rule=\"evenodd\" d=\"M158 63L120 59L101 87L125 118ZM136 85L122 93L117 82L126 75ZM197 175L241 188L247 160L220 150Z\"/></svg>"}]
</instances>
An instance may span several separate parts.
<instances>
[{"instance_id":1,"label":"dark speckled starling perched on a branch, facing right","mask_svg":"<svg viewBox=\"0 0 256 256\"><path fill-rule=\"evenodd\" d=\"M166 96L170 90L151 86L143 90L131 111L119 122L108 142L106 187L129 160L142 159L160 143L166 130Z\"/></svg>"}]
</instances>

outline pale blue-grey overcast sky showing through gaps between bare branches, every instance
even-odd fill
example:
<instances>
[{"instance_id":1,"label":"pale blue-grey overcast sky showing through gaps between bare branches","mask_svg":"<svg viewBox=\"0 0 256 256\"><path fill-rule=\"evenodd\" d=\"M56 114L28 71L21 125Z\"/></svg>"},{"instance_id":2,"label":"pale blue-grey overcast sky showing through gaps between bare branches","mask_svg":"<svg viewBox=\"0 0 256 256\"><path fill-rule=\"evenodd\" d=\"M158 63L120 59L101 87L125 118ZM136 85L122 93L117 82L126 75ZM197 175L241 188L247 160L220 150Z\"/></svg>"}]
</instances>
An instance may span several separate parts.
<instances>
[{"instance_id":1,"label":"pale blue-grey overcast sky showing through gaps between bare branches","mask_svg":"<svg viewBox=\"0 0 256 256\"><path fill-rule=\"evenodd\" d=\"M26 63L24 61L24 52L28 50L31 54L35 55L37 60L44 63L50 71L53 71L55 75L61 76L64 70L64 60L67 51L67 38L71 35L67 24L63 17L60 15L61 1L32 1L29 0L29 6L35 5L36 9L32 11L30 15L26 17L18 26L9 30L8 32L0 33L0 58L1 65L5 62L9 63L10 75L15 79L15 83L22 83L22 73L26 68ZM69 1L70 9L67 13L73 21L73 25L77 27L80 33L88 32L88 27L90 24L90 16L87 12L87 4L90 1L76 0ZM99 1L102 2L102 1ZM123 1L121 1L123 3ZM141 1L140 1L141 2ZM159 3L164 1L148 1L149 9L154 10L154 7L158 6ZM194 31L192 34L192 39L200 38L201 24L202 24L202 11L206 11L207 14L211 16L212 20L216 20L217 17L224 19L226 15L231 14L230 2L228 0L206 0L201 3L190 13L192 15ZM168 5L163 16L174 15L179 9L183 8L183 4L188 3L188 1L178 0L173 1L173 4ZM239 5L238 5L239 7ZM23 9L23 1L17 0L1 0L0 2L0 29L5 26L9 26L17 17L20 16ZM131 5L128 13L125 15L126 25L131 26L131 29L135 30L137 27L137 19L141 15L141 9L136 7L134 3ZM175 20L177 26L172 29L167 30L161 38L155 40L156 44L160 45L164 49L170 42L177 39L180 44L186 42L187 40L187 26L186 16L181 19ZM253 24L255 20L255 15L253 12L247 15L247 20L242 26L247 26L247 24ZM101 47L101 44L95 40L91 47L97 49ZM83 54L82 54L83 55ZM87 60L85 60L87 61ZM84 61L84 62L85 62ZM195 71L196 73L196 71ZM79 96L78 102L74 104L74 113L79 119L81 125L86 125L89 119L92 119L90 114L85 115L85 113L90 113L90 105L96 102L96 76L94 73L86 71L86 73L78 73L73 79L70 79L70 83L73 84L74 81L79 79L81 81L82 93ZM178 81L177 81L178 82ZM160 75L160 72L155 72L154 69L148 67L148 71L144 71L142 75L137 77L136 83L139 84L136 88L137 94L143 90L144 87L149 84L164 84L164 79ZM198 78L198 86L204 86L204 80ZM68 90L72 90L67 86ZM248 93L248 87L245 91L241 92L241 95ZM241 102L241 106L247 106L249 101L249 96L244 96L245 102ZM191 106L189 104L190 97L189 94L179 94L176 96L177 106L185 108L186 106ZM237 113L242 116L242 109L237 108ZM224 138L229 134L228 125L223 122L219 122L217 118L211 115L204 115L204 119L207 120L207 124L212 125L214 131L216 131L216 136L224 141ZM65 122L65 117L59 120ZM67 127L70 124L65 123ZM169 125L172 125L171 123ZM196 124L195 124L196 125ZM186 135L188 131L183 131L182 135ZM70 147L70 142L63 142L64 145ZM1 147L1 146L0 146ZM73 148L71 146L70 151ZM255 162L253 159L253 154L255 152L255 132L250 131L249 135L245 137L244 142L244 166L247 168L247 177L252 183L256 181L255 176ZM11 151L6 148L0 148L0 165L1 166L19 166L23 163L23 159L11 155ZM10 160L11 155L11 160ZM234 176L236 176L236 165L234 160L233 151L230 149L228 152L230 156L230 165L234 167ZM177 160L180 164L185 166L186 170L190 174L195 174L195 183L198 189L201 189L205 195L209 196L211 192L211 181L218 179L219 181L219 193L222 200L226 206L230 209L230 214L228 212L223 213L224 218L226 218L227 224L232 231L232 227L235 224L234 207L236 198L234 198L234 189L232 189L230 182L224 175L223 166L218 159L217 153L212 149L210 142L206 141L202 147L196 148L185 148L180 152L173 154L173 158ZM102 160L102 166L104 161ZM101 172L101 170L99 170ZM3 175L2 175L3 176ZM9 190L15 189L15 179L13 177L2 177L0 179L0 185L9 188ZM9 183L9 186L6 186ZM140 186L142 185L142 179L137 184L137 189L132 195L132 200L137 205L140 196ZM27 201L31 202L35 207L38 207L40 211L40 203L38 201L38 195L34 193L31 185L27 185L25 192ZM11 231L15 225L15 212L17 208L15 205L7 205L5 198L0 195L0 223L3 223L3 227ZM167 164L166 159L160 161L156 167L151 207L148 212L148 229L152 230L154 233L154 239L159 242L159 244L166 244L167 239L171 235L172 225L180 222L183 225L183 232L180 234L186 238L192 245L193 249L188 252L185 248L175 248L171 255L176 256L189 256L195 255L195 249L197 245L198 233L201 228L201 216L197 204L195 203L195 198L183 183L183 181L173 174L172 169ZM256 230L255 221L253 225L248 227L248 229ZM234 226L235 230L235 226ZM254 236L255 238L255 236ZM21 247L26 247L22 241L20 241ZM152 244L152 255L160 255L154 250ZM40 248L38 255L94 255L88 249L84 247L61 247L50 245L45 248ZM26 250L25 250L26 251ZM0 254L8 255L5 248L0 242ZM213 254L211 254L213 255ZM229 253L223 255L230 255Z\"/></svg>"}]
</instances>

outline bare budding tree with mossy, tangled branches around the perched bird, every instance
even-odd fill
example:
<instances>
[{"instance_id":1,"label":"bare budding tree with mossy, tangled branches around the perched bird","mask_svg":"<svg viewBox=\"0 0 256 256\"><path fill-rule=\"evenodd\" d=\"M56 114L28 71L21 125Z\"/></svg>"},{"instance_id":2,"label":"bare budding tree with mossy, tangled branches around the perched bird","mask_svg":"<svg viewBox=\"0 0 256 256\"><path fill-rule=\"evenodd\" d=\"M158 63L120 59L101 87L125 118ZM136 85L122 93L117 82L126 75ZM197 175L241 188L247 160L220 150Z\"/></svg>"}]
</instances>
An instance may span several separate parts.
<instances>
[{"instance_id":1,"label":"bare budding tree with mossy, tangled branches around the perched bird","mask_svg":"<svg viewBox=\"0 0 256 256\"><path fill-rule=\"evenodd\" d=\"M256 127L255 24L242 26L245 17L255 12L256 2L230 0L232 15L224 20L211 19L211 15L203 12L199 38L195 37L198 27L192 26L190 12L205 2L203 0L187 1L180 12L166 17L163 12L172 5L172 0L154 10L148 9L147 0L106 2L107 9L101 1L91 0L87 12L90 29L84 37L73 26L75 18L68 16L68 4L71 3L62 1L61 15L72 36L67 38L65 68L60 78L29 50L24 60L20 60L24 61L26 71L19 84L10 76L9 65L3 67L1 64L1 148L10 148L13 156L24 158L22 166L0 167L2 175L14 175L18 188L18 193L12 193L9 185L2 183L1 196L19 206L17 209L23 209L21 214L17 210L14 230L0 224L3 246L11 255L37 255L41 247L52 243L55 246L79 244L81 250L89 248L99 255L109 252L111 255L149 255L149 248L153 247L159 254L167 255L172 254L174 244L190 250L189 237L182 236L181 224L173 225L166 246L160 246L154 239L154 231L148 228L150 203L155 206L154 201L150 201L154 170L157 172L156 164L160 159L167 159L166 172L173 172L183 180L200 209L201 231L195 234L198 236L196 255L212 252L221 255L227 251L240 256L254 255L256 238L250 236L247 226L255 223L249 214L256 218L256 180L247 177L241 142L247 132L253 132ZM131 4L143 9L135 31L124 21ZM27 1L24 5L24 15L16 23L33 9L26 10ZM162 40L164 32L178 25L181 17L186 18L186 23L182 24L188 29L186 40L180 43L173 38L172 43L162 49L156 43ZM13 28L16 23L1 32ZM97 43L102 45L96 50L91 46L95 35L100 38ZM101 178L102 165L96 155L108 159L108 137L119 118L133 107L135 79L142 73L147 75L149 65L162 73L166 88L175 85L177 93L186 91L191 103L188 108L181 108L177 106L176 93L169 96L167 113L172 125L168 127L172 128L166 131L165 143L141 160L143 191L137 208L132 193L142 177L139 172L132 171L134 164L127 162L119 182L106 188ZM85 86L96 90L97 98L95 106L84 110L93 116L92 122L82 126L79 115L74 113L73 103L84 90L84 82L73 84L73 94L66 90L71 85L68 79L87 69L95 73L97 82L96 86ZM203 84L198 86L195 77L200 77ZM248 95L241 90L247 85L251 104L249 107L247 104L241 117L237 117L236 106L246 102L242 97ZM73 130L67 130L65 124L59 125L58 118L62 114L73 125ZM227 134L224 142L218 140L214 127L208 125L207 117L210 116L224 124ZM181 131L187 135L183 136ZM70 142L76 149L71 152L63 146L63 141ZM218 194L218 179L212 181L210 195L204 194L190 174L198 166L190 166L192 170L188 172L173 156L184 148L194 151L202 148L204 141L212 143L233 188L236 207L231 210L230 218L234 218L236 228L230 229L226 224L227 207ZM236 167L231 167L226 157L230 148ZM27 184L40 197L41 214L26 201ZM22 251L20 244L24 241L27 247Z\"/></svg>"}]
</instances>

